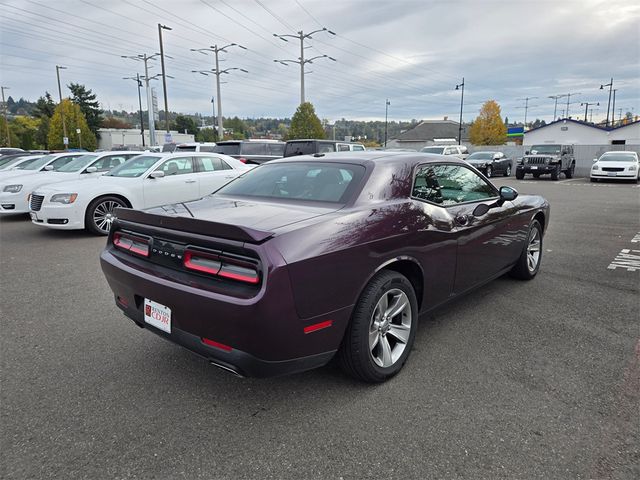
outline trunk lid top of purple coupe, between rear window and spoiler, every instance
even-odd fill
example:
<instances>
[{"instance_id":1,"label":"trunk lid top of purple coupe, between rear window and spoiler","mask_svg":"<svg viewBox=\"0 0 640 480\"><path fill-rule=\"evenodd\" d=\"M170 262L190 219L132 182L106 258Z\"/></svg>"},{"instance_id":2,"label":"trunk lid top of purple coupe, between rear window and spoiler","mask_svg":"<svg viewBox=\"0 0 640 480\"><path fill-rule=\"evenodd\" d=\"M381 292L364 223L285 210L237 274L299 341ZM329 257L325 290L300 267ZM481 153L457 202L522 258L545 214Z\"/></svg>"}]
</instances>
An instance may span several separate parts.
<instances>
[{"instance_id":1,"label":"trunk lid top of purple coupe, between rear window and spoiler","mask_svg":"<svg viewBox=\"0 0 640 480\"><path fill-rule=\"evenodd\" d=\"M145 212L273 232L294 223L333 213L340 208L342 205L300 205L210 196L195 202L155 207Z\"/></svg>"}]
</instances>

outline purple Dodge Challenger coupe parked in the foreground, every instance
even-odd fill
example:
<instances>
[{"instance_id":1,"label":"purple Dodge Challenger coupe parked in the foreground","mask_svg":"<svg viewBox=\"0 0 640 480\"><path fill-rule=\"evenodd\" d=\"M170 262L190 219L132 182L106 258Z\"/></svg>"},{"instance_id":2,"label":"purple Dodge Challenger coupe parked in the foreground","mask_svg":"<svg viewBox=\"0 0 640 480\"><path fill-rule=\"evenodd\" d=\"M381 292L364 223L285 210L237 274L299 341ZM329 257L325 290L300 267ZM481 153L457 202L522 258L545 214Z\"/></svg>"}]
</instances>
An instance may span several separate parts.
<instances>
[{"instance_id":1,"label":"purple Dodge Challenger coupe parked in the foreground","mask_svg":"<svg viewBox=\"0 0 640 480\"><path fill-rule=\"evenodd\" d=\"M357 152L272 161L200 200L117 217L102 270L140 327L240 376L335 356L382 382L419 315L536 275L549 204L450 157Z\"/></svg>"}]
</instances>

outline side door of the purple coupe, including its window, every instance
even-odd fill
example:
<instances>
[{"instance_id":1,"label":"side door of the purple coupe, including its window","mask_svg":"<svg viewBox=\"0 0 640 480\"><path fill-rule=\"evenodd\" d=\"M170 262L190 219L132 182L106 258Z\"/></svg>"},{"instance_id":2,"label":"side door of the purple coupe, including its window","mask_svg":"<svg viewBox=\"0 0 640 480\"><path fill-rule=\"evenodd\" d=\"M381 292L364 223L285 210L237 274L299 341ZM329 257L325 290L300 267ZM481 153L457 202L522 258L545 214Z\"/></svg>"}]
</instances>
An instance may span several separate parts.
<instances>
[{"instance_id":1,"label":"side door of the purple coupe, including its window","mask_svg":"<svg viewBox=\"0 0 640 480\"><path fill-rule=\"evenodd\" d=\"M522 232L511 202L500 202L498 190L470 168L459 164L428 165L433 200L453 219L457 241L454 292L474 287L504 270L522 248ZM491 208L480 214L476 207Z\"/></svg>"}]
</instances>

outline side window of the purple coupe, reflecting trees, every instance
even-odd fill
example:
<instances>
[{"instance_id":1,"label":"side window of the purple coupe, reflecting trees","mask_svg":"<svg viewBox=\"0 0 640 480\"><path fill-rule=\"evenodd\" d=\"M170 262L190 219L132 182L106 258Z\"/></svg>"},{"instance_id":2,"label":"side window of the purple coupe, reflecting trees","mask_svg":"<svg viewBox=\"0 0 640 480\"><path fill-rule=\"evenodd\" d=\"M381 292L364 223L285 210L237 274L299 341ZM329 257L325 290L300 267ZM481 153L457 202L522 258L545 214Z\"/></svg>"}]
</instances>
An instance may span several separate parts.
<instances>
[{"instance_id":1,"label":"side window of the purple coupe, reflecting trees","mask_svg":"<svg viewBox=\"0 0 640 480\"><path fill-rule=\"evenodd\" d=\"M495 198L498 192L463 165L423 165L416 172L412 196L447 206Z\"/></svg>"}]
</instances>

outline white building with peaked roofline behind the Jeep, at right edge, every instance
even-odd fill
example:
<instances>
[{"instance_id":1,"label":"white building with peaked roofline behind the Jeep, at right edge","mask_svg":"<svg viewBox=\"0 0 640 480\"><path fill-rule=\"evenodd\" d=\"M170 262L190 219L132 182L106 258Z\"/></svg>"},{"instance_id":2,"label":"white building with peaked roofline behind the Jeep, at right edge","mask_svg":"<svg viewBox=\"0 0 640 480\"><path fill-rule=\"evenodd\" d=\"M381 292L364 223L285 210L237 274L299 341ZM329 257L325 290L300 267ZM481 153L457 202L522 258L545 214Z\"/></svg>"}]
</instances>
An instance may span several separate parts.
<instances>
[{"instance_id":1,"label":"white building with peaked roofline behind the Jeep, at right edge","mask_svg":"<svg viewBox=\"0 0 640 480\"><path fill-rule=\"evenodd\" d=\"M565 118L525 132L523 145L541 143L640 145L640 121L621 127L605 128Z\"/></svg>"}]
</instances>

